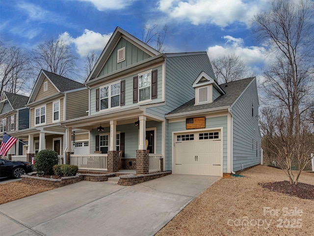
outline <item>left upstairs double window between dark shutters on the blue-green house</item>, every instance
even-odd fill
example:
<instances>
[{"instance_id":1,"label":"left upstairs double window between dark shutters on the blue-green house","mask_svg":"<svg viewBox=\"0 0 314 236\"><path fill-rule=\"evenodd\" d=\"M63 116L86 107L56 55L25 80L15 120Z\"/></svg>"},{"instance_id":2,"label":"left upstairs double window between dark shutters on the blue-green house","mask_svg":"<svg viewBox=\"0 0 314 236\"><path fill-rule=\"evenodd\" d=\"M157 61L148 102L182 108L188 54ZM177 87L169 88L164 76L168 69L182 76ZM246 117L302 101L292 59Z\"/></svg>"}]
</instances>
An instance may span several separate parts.
<instances>
[{"instance_id":1,"label":"left upstairs double window between dark shutters on the blue-green house","mask_svg":"<svg viewBox=\"0 0 314 236\"><path fill-rule=\"evenodd\" d=\"M120 82L100 88L100 110L120 106Z\"/></svg>"}]
</instances>

